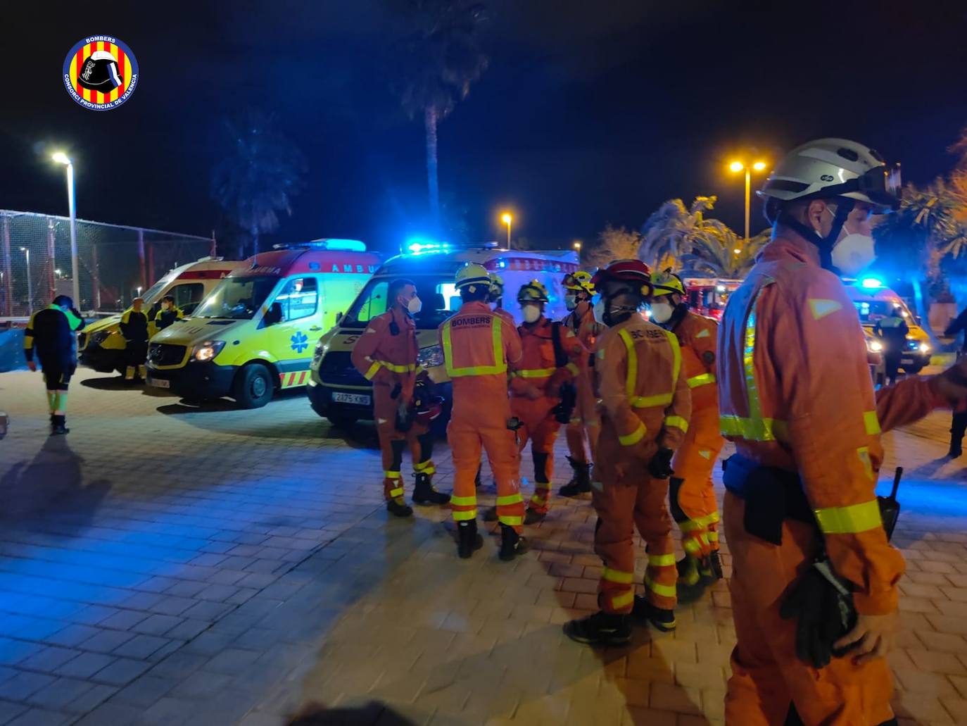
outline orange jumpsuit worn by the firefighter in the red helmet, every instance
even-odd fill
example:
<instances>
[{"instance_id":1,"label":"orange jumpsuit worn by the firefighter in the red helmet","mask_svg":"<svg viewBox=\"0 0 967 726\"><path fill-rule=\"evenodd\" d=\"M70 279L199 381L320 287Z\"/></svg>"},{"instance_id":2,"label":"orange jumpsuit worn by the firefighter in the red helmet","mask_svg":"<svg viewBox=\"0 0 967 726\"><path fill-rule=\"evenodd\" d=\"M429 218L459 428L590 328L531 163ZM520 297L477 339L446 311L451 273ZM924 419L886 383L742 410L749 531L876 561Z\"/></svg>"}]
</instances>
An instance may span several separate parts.
<instances>
[{"instance_id":1,"label":"orange jumpsuit worn by the firefighter in the red helmet","mask_svg":"<svg viewBox=\"0 0 967 726\"><path fill-rule=\"evenodd\" d=\"M598 601L605 613L634 604L634 526L647 544L649 602L675 607L675 544L668 516L668 480L653 479L648 462L659 447L677 448L689 429L691 399L682 354L672 333L640 316L605 330L595 373L601 393L595 552L604 561ZM600 489L598 487L601 487Z\"/></svg>"}]
</instances>

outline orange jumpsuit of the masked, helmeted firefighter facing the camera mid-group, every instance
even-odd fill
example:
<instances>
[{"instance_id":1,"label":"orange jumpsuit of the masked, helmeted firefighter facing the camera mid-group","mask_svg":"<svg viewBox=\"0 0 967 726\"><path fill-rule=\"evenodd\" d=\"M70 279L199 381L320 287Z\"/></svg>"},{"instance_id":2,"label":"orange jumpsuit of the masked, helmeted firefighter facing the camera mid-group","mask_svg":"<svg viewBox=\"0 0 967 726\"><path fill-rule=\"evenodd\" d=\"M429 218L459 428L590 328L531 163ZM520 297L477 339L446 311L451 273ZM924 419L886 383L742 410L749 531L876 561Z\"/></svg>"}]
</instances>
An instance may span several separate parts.
<instances>
[{"instance_id":1,"label":"orange jumpsuit of the masked, helmeted firefighter facing the camera mid-group","mask_svg":"<svg viewBox=\"0 0 967 726\"><path fill-rule=\"evenodd\" d=\"M511 413L520 419L517 444L523 451L531 439L534 459L534 496L529 507L536 512L547 511L550 480L554 476L554 441L561 424L554 418L553 408L561 398L561 385L580 374L580 364L587 360L587 350L564 325L559 326L560 345L568 363L558 367L554 354L554 323L540 318L533 325L517 328L523 355L511 367ZM529 394L538 389L541 395Z\"/></svg>"}]
</instances>

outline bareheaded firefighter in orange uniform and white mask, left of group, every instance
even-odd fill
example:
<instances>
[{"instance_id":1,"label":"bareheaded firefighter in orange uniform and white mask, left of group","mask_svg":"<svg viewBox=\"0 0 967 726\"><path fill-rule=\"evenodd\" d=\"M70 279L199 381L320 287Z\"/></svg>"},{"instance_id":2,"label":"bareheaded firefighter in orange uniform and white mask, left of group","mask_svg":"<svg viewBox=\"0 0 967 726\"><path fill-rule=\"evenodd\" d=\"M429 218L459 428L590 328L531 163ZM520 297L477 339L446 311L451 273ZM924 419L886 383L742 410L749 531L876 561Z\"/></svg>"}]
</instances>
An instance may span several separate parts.
<instances>
[{"instance_id":1,"label":"bareheaded firefighter in orange uniform and white mask, left of group","mask_svg":"<svg viewBox=\"0 0 967 726\"><path fill-rule=\"evenodd\" d=\"M413 514L403 497L403 451L413 455L417 504L446 504L450 498L433 488L433 435L417 420L414 393L425 381L418 376L416 323L422 303L409 280L394 280L387 289L389 310L369 320L352 352L353 365L372 381L373 416L383 455L383 496L397 517Z\"/></svg>"}]
</instances>

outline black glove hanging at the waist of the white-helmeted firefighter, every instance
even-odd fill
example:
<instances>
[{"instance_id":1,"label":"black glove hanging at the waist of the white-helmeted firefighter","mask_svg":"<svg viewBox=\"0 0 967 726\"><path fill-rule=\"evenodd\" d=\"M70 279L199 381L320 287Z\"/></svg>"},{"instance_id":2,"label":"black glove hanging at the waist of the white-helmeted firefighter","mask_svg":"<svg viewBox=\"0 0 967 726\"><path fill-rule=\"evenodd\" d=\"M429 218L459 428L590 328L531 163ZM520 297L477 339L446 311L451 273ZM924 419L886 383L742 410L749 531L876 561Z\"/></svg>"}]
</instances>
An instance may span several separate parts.
<instances>
[{"instance_id":1,"label":"black glove hanging at the waist of the white-helmeted firefighter","mask_svg":"<svg viewBox=\"0 0 967 726\"><path fill-rule=\"evenodd\" d=\"M836 576L829 560L821 560L806 570L782 601L779 615L798 620L796 654L813 668L823 668L834 656L841 657L853 648L833 648L856 625L851 588Z\"/></svg>"}]
</instances>

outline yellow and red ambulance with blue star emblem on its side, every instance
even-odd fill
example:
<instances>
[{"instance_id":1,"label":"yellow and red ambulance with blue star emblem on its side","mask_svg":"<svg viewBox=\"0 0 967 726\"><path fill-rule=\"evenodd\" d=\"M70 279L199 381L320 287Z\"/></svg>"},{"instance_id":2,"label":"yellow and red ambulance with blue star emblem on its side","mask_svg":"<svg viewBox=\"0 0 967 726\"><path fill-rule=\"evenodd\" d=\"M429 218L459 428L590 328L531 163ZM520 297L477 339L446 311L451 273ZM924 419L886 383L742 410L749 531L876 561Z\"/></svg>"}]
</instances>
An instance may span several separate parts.
<instances>
[{"instance_id":1,"label":"yellow and red ambulance with blue star emblem on its side","mask_svg":"<svg viewBox=\"0 0 967 726\"><path fill-rule=\"evenodd\" d=\"M278 245L249 257L148 346L148 384L194 401L261 408L303 386L312 348L379 266L358 240Z\"/></svg>"}]
</instances>

